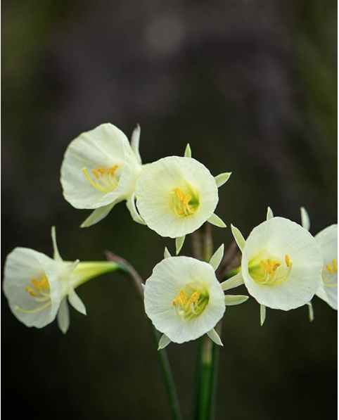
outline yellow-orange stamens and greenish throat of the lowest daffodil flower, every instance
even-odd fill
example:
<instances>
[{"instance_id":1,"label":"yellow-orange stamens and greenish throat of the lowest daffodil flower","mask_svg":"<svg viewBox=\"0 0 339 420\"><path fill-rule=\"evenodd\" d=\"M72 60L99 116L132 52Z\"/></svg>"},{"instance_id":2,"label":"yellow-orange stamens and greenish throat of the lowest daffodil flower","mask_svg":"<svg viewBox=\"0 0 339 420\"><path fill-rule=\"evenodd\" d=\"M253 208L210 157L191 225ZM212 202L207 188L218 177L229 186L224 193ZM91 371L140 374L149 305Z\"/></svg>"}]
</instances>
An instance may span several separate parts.
<instances>
[{"instance_id":1,"label":"yellow-orange stamens and greenish throat of the lowest daffodil flower","mask_svg":"<svg viewBox=\"0 0 339 420\"><path fill-rule=\"evenodd\" d=\"M205 310L208 300L209 296L202 293L200 288L193 291L190 298L188 298L186 291L181 290L177 298L173 300L173 307L177 317L180 317L181 321L187 322Z\"/></svg>"}]
</instances>

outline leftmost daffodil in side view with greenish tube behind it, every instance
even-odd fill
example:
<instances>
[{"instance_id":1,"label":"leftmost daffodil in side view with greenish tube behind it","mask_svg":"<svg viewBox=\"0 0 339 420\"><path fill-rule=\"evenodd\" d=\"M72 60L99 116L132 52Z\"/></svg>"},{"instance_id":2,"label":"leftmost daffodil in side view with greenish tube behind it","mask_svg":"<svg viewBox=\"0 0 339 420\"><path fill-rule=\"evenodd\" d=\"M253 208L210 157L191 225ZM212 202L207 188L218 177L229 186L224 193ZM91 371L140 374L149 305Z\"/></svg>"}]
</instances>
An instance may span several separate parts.
<instances>
[{"instance_id":1,"label":"leftmost daffodil in side view with greenish tube behind it","mask_svg":"<svg viewBox=\"0 0 339 420\"><path fill-rule=\"evenodd\" d=\"M68 302L82 314L84 303L75 288L105 272L115 271L115 262L63 261L52 228L53 258L30 248L15 248L6 258L4 294L11 311L26 326L42 328L58 317L65 333L70 325Z\"/></svg>"}]
</instances>

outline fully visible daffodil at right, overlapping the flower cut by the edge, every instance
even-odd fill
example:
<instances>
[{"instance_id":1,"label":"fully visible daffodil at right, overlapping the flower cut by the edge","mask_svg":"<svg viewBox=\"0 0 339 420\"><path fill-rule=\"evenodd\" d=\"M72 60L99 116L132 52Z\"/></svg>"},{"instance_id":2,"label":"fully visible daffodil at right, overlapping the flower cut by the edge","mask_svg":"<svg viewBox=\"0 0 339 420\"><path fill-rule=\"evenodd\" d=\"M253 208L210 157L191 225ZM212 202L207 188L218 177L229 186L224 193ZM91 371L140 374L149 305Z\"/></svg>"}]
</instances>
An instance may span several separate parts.
<instances>
[{"instance_id":1,"label":"fully visible daffodil at right, overlapping the flower cut by the edge","mask_svg":"<svg viewBox=\"0 0 339 420\"><path fill-rule=\"evenodd\" d=\"M241 271L222 283L228 290L245 284L250 295L261 305L261 324L266 307L292 310L312 299L321 282L323 258L316 240L299 224L273 217L243 238L232 226L232 233L243 255Z\"/></svg>"}]
</instances>

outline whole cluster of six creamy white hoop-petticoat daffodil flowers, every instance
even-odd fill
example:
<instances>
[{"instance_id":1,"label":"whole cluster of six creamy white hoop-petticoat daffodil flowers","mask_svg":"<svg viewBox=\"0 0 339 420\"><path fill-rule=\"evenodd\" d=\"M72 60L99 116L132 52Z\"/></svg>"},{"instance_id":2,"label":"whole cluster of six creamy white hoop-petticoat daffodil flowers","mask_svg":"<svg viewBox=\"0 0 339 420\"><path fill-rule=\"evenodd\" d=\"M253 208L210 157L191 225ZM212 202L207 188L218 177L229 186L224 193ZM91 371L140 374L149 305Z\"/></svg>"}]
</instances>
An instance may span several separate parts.
<instances>
[{"instance_id":1,"label":"whole cluster of six creamy white hoop-petticoat daffodil flowers","mask_svg":"<svg viewBox=\"0 0 339 420\"><path fill-rule=\"evenodd\" d=\"M61 166L65 199L75 208L91 209L82 223L89 227L106 217L115 204L127 202L132 219L146 224L160 236L175 238L178 255L187 234L205 222L226 224L215 214L218 189L231 176L213 177L192 158L186 146L184 156L169 156L143 165L139 153L140 127L127 136L111 124L80 134L68 146ZM311 305L318 295L337 309L337 225L327 227L315 238L309 234L309 217L302 209L302 226L274 217L255 227L245 240L231 226L242 252L237 274L220 282L215 271L222 262L220 246L209 262L191 257L165 258L153 269L144 286L148 317L162 332L159 348L171 341L184 343L205 333L222 345L215 326L227 305L245 302L245 295L224 295L244 284L260 303L261 323L266 307L292 310ZM54 231L53 231L54 232ZM38 328L58 314L60 329L69 324L67 299L79 312L85 308L75 288L102 272L117 269L114 262L64 262L53 244L54 259L34 250L15 248L5 266L4 292L11 310L27 326ZM224 279L223 279L224 280Z\"/></svg>"}]
</instances>

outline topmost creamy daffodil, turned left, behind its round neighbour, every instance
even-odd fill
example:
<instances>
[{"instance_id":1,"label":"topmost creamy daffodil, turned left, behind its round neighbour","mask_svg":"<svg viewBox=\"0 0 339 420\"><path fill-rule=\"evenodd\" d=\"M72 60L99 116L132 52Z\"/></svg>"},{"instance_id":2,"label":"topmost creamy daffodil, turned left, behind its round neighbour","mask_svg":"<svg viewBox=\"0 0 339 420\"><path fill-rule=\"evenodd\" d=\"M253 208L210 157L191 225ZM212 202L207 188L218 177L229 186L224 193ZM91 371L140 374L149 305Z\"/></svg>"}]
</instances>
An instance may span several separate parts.
<instances>
[{"instance_id":1,"label":"topmost creamy daffodil, turned left, behind its round neighbour","mask_svg":"<svg viewBox=\"0 0 339 420\"><path fill-rule=\"evenodd\" d=\"M63 195L75 208L95 209L82 227L99 222L124 200L132 218L143 224L134 198L142 170L139 138L139 125L129 144L120 129L107 123L80 134L69 144L61 165Z\"/></svg>"}]
</instances>

